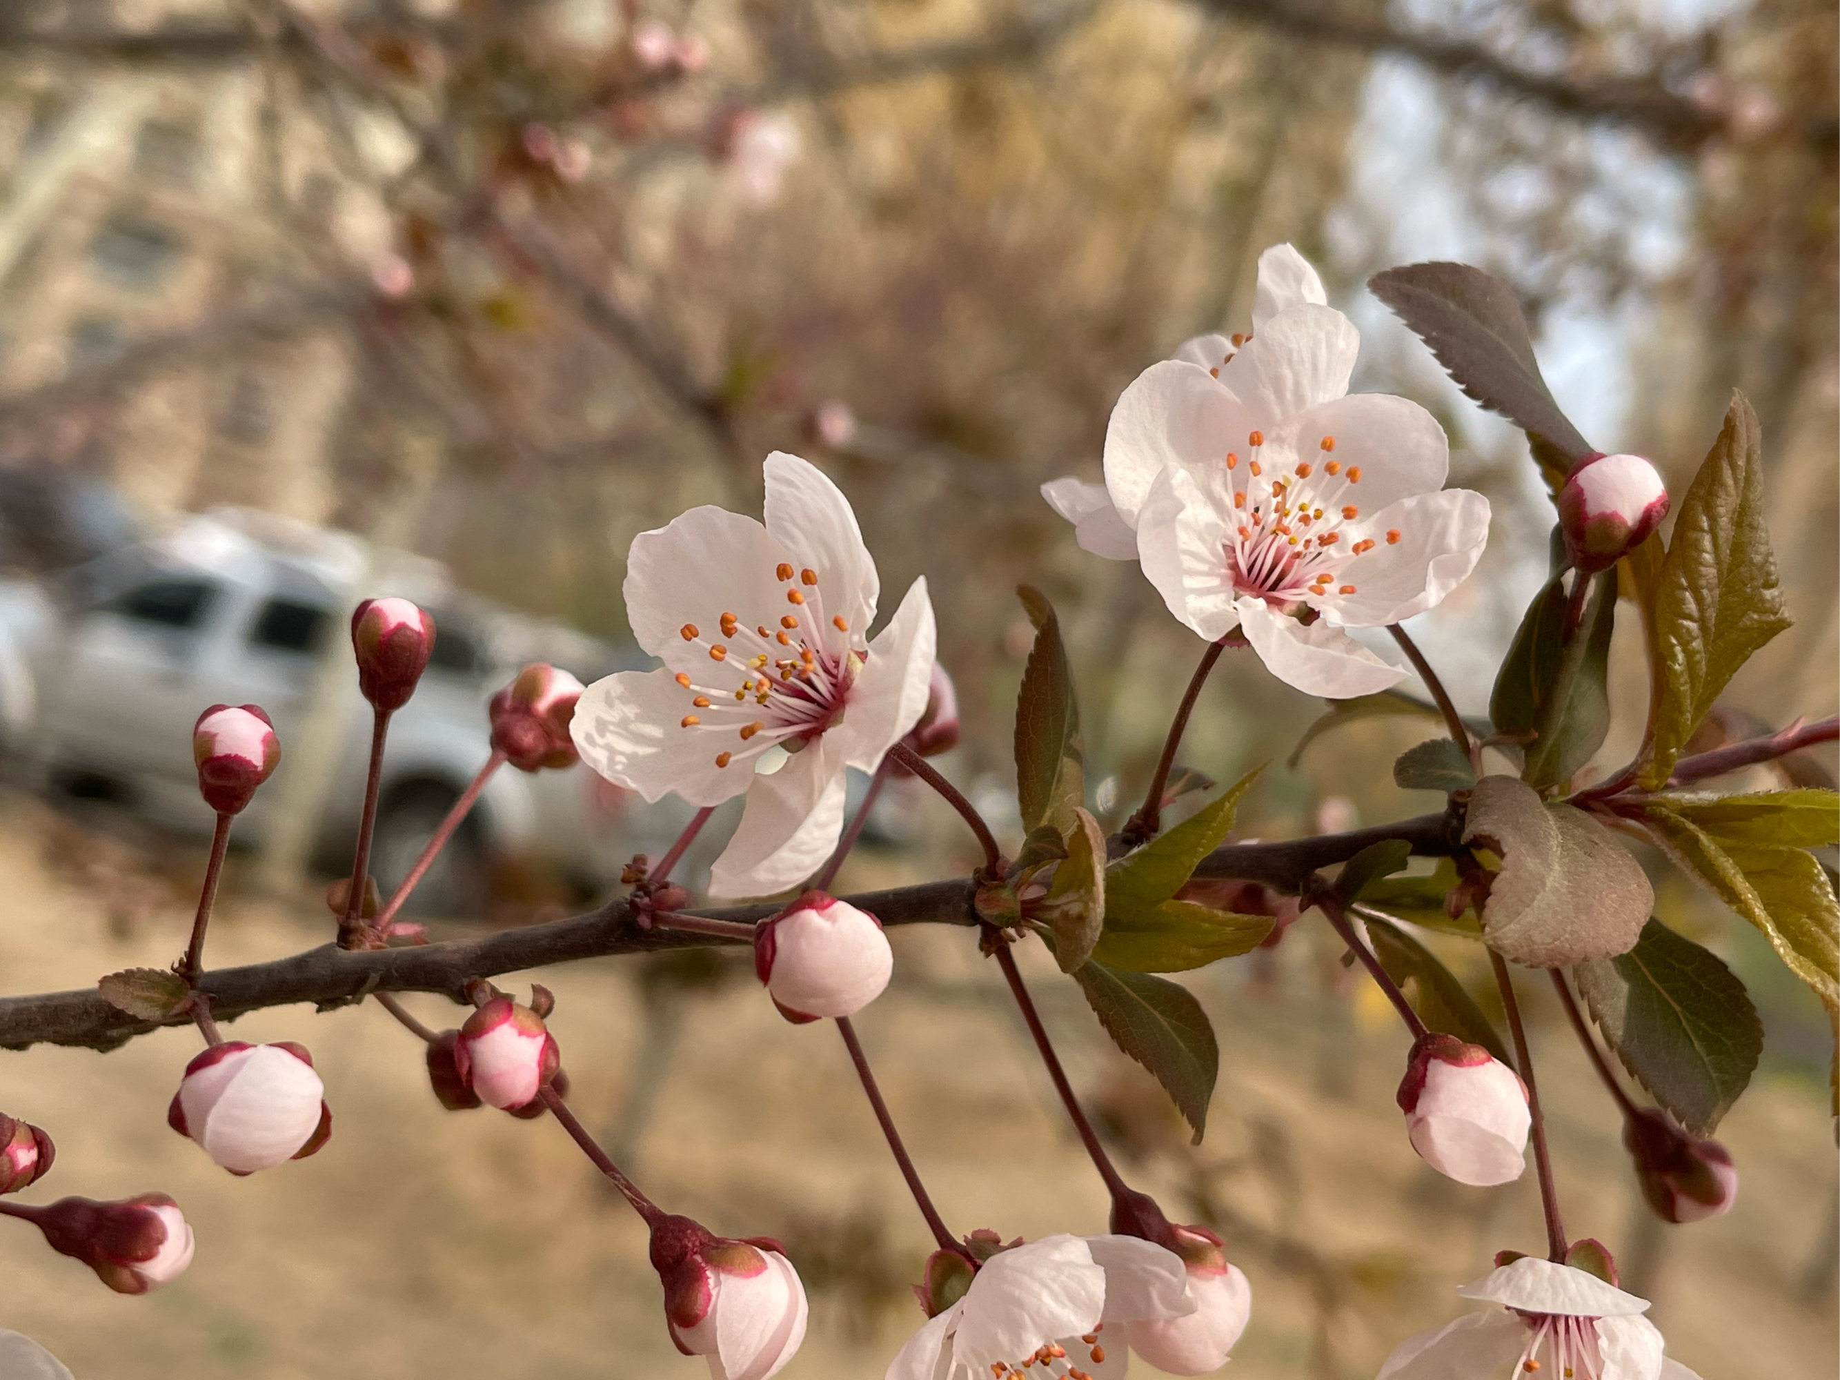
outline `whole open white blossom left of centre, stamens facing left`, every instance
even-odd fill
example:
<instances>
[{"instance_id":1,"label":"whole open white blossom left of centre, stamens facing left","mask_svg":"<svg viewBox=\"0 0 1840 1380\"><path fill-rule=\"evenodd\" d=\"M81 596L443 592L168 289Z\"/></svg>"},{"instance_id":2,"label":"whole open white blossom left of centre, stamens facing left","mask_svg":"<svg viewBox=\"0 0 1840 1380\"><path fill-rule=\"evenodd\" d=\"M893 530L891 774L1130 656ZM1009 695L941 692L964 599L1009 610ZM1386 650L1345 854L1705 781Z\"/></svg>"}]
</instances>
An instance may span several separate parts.
<instances>
[{"instance_id":1,"label":"whole open white blossom left of centre, stamens facing left","mask_svg":"<svg viewBox=\"0 0 1840 1380\"><path fill-rule=\"evenodd\" d=\"M868 640L881 583L848 500L780 451L765 488L764 526L692 508L633 539L626 611L664 666L596 681L570 725L581 760L646 800L747 793L718 896L786 891L824 861L845 767L881 764L926 712L933 673L926 580Z\"/></svg>"}]
</instances>

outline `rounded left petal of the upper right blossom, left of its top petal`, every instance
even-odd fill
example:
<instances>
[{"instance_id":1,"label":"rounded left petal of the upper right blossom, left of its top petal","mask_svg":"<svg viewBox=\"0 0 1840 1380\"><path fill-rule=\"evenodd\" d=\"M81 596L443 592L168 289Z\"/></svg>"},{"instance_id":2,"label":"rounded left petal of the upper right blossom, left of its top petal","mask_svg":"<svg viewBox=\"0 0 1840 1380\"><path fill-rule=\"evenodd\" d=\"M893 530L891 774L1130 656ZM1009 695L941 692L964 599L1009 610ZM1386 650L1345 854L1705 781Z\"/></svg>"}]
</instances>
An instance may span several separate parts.
<instances>
[{"instance_id":1,"label":"rounded left petal of the upper right blossom, left of its top petal","mask_svg":"<svg viewBox=\"0 0 1840 1380\"><path fill-rule=\"evenodd\" d=\"M1106 423L1106 491L1128 526L1174 460L1218 460L1248 425L1233 394L1198 364L1165 359L1126 388Z\"/></svg>"}]
</instances>

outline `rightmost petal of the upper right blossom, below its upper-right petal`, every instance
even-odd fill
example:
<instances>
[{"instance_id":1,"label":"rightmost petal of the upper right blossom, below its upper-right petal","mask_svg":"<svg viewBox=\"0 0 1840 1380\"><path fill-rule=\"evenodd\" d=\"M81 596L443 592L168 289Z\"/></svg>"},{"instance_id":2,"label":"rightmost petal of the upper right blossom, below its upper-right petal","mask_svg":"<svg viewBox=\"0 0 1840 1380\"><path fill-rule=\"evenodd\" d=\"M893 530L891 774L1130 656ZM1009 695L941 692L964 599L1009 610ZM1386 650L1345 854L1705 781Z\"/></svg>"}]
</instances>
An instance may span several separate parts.
<instances>
[{"instance_id":1,"label":"rightmost petal of the upper right blossom, below its upper-right petal","mask_svg":"<svg viewBox=\"0 0 1840 1380\"><path fill-rule=\"evenodd\" d=\"M1393 541L1393 535L1398 541ZM1384 627L1435 609L1470 578L1489 545L1489 500L1470 489L1400 499L1341 532L1374 546L1341 569L1354 594L1312 600L1343 627Z\"/></svg>"}]
</instances>

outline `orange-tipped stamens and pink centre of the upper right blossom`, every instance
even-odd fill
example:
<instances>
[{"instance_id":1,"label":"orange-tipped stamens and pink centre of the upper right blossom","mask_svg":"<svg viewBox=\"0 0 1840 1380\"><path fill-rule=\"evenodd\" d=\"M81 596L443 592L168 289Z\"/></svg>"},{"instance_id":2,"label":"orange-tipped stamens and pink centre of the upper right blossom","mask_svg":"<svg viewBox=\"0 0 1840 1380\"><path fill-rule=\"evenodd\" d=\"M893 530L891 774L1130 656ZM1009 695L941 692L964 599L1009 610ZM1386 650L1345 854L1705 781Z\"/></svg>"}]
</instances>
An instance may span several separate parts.
<instances>
[{"instance_id":1,"label":"orange-tipped stamens and pink centre of the upper right blossom","mask_svg":"<svg viewBox=\"0 0 1840 1380\"><path fill-rule=\"evenodd\" d=\"M1262 598L1279 609L1314 607L1328 594L1354 594L1347 576L1378 537L1351 539L1345 528L1360 521L1356 486L1360 466L1334 458L1336 438L1323 436L1316 460L1284 467L1268 464L1264 434L1246 438L1246 454L1227 451L1233 489L1231 528L1222 545L1235 594ZM1386 532L1386 545L1400 539Z\"/></svg>"}]
</instances>

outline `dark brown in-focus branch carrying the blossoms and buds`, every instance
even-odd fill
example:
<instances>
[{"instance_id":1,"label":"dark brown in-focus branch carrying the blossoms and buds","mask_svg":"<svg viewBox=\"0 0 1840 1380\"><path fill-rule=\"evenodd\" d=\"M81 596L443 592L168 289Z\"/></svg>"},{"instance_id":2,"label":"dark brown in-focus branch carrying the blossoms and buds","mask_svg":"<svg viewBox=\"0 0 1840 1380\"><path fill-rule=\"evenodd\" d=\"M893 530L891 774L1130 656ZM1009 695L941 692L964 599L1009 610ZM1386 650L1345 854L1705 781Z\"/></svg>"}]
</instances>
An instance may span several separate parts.
<instances>
[{"instance_id":1,"label":"dark brown in-focus branch carrying the blossoms and buds","mask_svg":"<svg viewBox=\"0 0 1840 1380\"><path fill-rule=\"evenodd\" d=\"M1406 839L1413 852L1432 857L1455 846L1450 815L1419 815L1397 824L1380 824L1352 834L1327 834L1288 843L1242 843L1216 848L1196 868L1198 878L1246 878L1295 889L1321 867L1343 863L1380 839ZM846 898L870 911L885 926L953 924L977 926L970 878L927 881ZM758 922L778 905L730 905L703 914L719 920ZM212 1014L230 1021L267 1006L311 1001L320 1010L346 1006L372 992L442 992L467 1005L469 979L576 962L618 953L734 944L710 935L664 927L640 929L624 898L587 914L550 920L541 926L506 929L495 935L447 944L399 949L340 949L324 944L274 962L221 968L199 977L199 990L210 997ZM0 1049L31 1045L81 1045L114 1049L160 1025L184 1025L190 1016L144 1021L103 1001L94 988L46 992L0 999Z\"/></svg>"}]
</instances>

